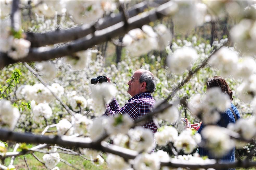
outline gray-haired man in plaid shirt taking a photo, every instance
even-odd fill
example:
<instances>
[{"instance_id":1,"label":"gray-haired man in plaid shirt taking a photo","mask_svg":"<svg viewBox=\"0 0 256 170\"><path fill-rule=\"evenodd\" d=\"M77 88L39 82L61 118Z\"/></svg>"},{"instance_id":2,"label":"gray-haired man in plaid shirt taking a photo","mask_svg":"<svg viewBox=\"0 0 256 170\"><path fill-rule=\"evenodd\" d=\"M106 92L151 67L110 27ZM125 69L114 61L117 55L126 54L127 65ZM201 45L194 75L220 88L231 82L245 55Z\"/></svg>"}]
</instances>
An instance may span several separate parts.
<instances>
[{"instance_id":1,"label":"gray-haired man in plaid shirt taking a photo","mask_svg":"<svg viewBox=\"0 0 256 170\"><path fill-rule=\"evenodd\" d=\"M108 82L111 83L110 78ZM114 98L112 102L106 105L107 110L104 116L115 114L128 114L133 120L138 119L148 114L151 109L154 108L155 100L151 96L151 93L155 91L155 78L154 75L147 70L139 69L134 72L133 76L127 83L128 93L132 96L122 108L120 108L118 102ZM147 119L143 127L150 129L153 133L157 131L152 118Z\"/></svg>"}]
</instances>

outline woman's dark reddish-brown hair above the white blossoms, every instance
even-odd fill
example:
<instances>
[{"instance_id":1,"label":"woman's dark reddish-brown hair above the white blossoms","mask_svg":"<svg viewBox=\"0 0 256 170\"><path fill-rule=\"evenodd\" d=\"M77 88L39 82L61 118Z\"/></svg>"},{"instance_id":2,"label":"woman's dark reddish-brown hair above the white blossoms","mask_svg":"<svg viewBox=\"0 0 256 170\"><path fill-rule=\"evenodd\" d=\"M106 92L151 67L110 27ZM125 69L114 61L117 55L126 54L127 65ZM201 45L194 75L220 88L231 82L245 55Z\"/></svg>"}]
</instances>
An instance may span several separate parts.
<instances>
[{"instance_id":1,"label":"woman's dark reddish-brown hair above the white blossoms","mask_svg":"<svg viewBox=\"0 0 256 170\"><path fill-rule=\"evenodd\" d=\"M230 89L230 87L227 84L227 81L220 77L220 76L214 76L213 78L207 80L206 82L207 89L210 89L212 87L220 87L223 93L226 93L229 95L229 98L231 101L233 101L233 92Z\"/></svg>"}]
</instances>

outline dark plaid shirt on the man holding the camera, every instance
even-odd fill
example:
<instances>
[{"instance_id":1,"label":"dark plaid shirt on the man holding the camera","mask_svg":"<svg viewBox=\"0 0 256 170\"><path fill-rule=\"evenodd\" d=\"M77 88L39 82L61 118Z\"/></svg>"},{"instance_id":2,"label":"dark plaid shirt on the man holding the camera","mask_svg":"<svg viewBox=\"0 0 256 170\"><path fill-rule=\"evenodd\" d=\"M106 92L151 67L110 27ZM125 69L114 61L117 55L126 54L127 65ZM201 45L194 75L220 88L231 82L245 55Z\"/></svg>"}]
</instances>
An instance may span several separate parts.
<instances>
[{"instance_id":1,"label":"dark plaid shirt on the man holding the camera","mask_svg":"<svg viewBox=\"0 0 256 170\"><path fill-rule=\"evenodd\" d=\"M154 108L155 100L151 96L150 92L141 92L128 100L122 108L120 108L118 102L114 98L112 102L106 105L106 111L103 116L114 116L115 114L128 114L133 120L138 119L148 114ZM152 118L148 118L143 127L150 129L155 133L157 126Z\"/></svg>"}]
</instances>

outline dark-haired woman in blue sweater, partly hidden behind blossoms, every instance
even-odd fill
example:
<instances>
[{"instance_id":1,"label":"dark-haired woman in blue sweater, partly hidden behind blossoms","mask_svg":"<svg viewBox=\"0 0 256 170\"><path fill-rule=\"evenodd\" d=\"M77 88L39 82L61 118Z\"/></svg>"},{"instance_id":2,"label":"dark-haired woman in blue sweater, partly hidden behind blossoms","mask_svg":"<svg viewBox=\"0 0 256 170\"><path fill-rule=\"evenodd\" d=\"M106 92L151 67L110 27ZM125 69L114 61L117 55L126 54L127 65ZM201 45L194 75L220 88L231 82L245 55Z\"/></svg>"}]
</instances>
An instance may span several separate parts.
<instances>
[{"instance_id":1,"label":"dark-haired woman in blue sweater, partly hidden behind blossoms","mask_svg":"<svg viewBox=\"0 0 256 170\"><path fill-rule=\"evenodd\" d=\"M229 98L232 102L232 90L228 86L226 80L220 76L214 76L213 78L209 79L206 83L207 90L212 87L220 87L223 93L226 93L229 95ZM233 110L232 110L232 109ZM234 114L233 114L234 112ZM227 109L225 112L221 114L221 119L218 121L217 125L220 127L226 128L229 123L235 123L236 119L239 119L240 115L237 110L237 108L231 103L230 109ZM188 124L188 123L187 123ZM197 124L192 124L191 127L196 127ZM188 126L186 126L188 127ZM203 128L205 127L204 123L202 123L201 127L198 129L198 133L200 134ZM207 148L198 147L198 153L200 156L208 156L209 159L216 159L213 155L211 155ZM228 161L228 162L235 162L235 147L233 150L230 150L228 153L226 153L221 160ZM234 168L235 169L235 168Z\"/></svg>"}]
</instances>

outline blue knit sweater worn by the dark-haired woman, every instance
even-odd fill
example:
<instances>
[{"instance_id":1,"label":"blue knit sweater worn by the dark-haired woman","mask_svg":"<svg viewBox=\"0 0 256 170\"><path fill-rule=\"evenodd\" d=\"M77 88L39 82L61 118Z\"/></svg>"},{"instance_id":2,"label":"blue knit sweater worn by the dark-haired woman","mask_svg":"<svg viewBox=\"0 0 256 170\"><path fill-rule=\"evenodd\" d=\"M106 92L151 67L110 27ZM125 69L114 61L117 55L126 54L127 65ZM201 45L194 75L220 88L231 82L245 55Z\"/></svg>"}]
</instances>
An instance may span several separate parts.
<instances>
[{"instance_id":1,"label":"blue knit sweater worn by the dark-haired woman","mask_svg":"<svg viewBox=\"0 0 256 170\"><path fill-rule=\"evenodd\" d=\"M234 106L231 103L231 107L234 110L237 119L240 119L240 115L239 115L239 112L238 112L236 106ZM223 112L223 114L221 114L221 119L217 123L217 125L220 127L226 128L229 123L235 123L235 117L234 117L232 111L230 109L227 109L225 112ZM198 130L199 134L201 133L201 131L204 127L205 127L205 125L202 123L200 129ZM198 153L200 156L208 156L209 159L216 159L216 158L214 158L213 155L211 155L209 153L207 148L198 147ZM229 152L227 152L223 156L223 158L221 158L221 160L228 161L228 162L235 162L235 147L233 148L233 150L230 150ZM230 170L235 170L235 168L230 169Z\"/></svg>"}]
</instances>

